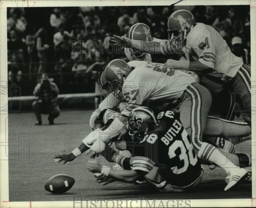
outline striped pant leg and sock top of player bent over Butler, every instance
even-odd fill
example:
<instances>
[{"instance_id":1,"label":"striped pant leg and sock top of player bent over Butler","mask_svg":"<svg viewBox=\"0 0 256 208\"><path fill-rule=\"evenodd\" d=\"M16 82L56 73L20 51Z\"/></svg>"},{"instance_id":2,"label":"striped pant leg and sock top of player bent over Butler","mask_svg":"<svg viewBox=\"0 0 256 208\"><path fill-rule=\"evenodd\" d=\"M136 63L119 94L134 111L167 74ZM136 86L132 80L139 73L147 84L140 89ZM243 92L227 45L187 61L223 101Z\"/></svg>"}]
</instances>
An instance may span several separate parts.
<instances>
[{"instance_id":1,"label":"striped pant leg and sock top of player bent over Butler","mask_svg":"<svg viewBox=\"0 0 256 208\"><path fill-rule=\"evenodd\" d=\"M211 107L209 90L198 83L189 84L178 102L177 111L180 113L180 121L190 137L195 152L198 157L208 160L216 149L213 145L202 142Z\"/></svg>"}]
</instances>

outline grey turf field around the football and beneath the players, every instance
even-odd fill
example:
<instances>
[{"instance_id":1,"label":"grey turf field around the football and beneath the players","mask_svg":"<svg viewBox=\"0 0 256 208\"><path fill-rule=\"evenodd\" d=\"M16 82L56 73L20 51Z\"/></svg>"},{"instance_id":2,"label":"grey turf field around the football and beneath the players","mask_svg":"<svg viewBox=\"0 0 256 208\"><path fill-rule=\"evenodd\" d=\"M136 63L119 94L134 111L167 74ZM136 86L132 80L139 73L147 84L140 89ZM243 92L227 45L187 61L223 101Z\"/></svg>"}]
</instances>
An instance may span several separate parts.
<instances>
[{"instance_id":1,"label":"grey turf field around the football and beneath the players","mask_svg":"<svg viewBox=\"0 0 256 208\"><path fill-rule=\"evenodd\" d=\"M86 169L90 155L82 154L65 165L56 163L52 155L69 153L81 144L91 131L89 119L92 110L62 110L55 125L48 125L47 116L42 116L43 125L30 133L30 163L37 168L15 168L18 162L18 146L9 146L9 201L72 201L71 197L84 197L84 200L100 199L242 199L252 197L251 181L239 184L233 191L224 191L226 173L216 168L204 166L202 182L193 192L159 193L150 185L135 185L114 182L106 186L98 184L91 172ZM10 128L16 121L21 125L20 132ZM27 123L35 121L32 112L17 113L9 118L8 141L17 144L18 134L25 131ZM26 133L23 133L26 134ZM241 146L241 151L249 152L249 146ZM67 174L76 182L63 194L52 194L44 189L46 181L56 174Z\"/></svg>"}]
</instances>

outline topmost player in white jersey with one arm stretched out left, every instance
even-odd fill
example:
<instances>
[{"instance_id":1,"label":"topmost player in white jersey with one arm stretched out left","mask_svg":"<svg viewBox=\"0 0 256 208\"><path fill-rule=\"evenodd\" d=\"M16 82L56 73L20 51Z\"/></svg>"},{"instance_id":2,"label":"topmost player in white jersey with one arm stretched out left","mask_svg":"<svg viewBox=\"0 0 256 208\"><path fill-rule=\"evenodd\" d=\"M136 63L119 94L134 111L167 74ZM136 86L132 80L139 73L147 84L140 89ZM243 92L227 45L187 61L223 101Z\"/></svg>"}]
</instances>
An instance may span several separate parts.
<instances>
[{"instance_id":1,"label":"topmost player in white jersey with one arm stretched out left","mask_svg":"<svg viewBox=\"0 0 256 208\"><path fill-rule=\"evenodd\" d=\"M175 52L179 47L183 47L186 60L176 61L168 59L166 67L194 71L210 79L215 84L201 82L213 92L219 88L219 84L229 88L236 101L236 111L232 109L230 119L234 119L237 111L243 113L243 118L249 122L251 120L251 68L243 64L240 57L232 54L226 41L211 26L203 23L196 23L192 13L187 10L175 11L168 20L169 40L164 45L160 42L149 41L140 43L126 37L111 37L115 43L122 43L126 47L131 46L133 50L145 53L155 53L166 50L166 53ZM170 38L170 34L172 34ZM155 44L155 47L153 47ZM186 44L186 45L185 45ZM187 47L186 47L187 46ZM168 50L171 47L171 50ZM152 50L153 49L153 50ZM239 93L235 91L238 84L243 84L239 88ZM241 91L241 93L240 93ZM232 115L233 114L233 115Z\"/></svg>"}]
</instances>

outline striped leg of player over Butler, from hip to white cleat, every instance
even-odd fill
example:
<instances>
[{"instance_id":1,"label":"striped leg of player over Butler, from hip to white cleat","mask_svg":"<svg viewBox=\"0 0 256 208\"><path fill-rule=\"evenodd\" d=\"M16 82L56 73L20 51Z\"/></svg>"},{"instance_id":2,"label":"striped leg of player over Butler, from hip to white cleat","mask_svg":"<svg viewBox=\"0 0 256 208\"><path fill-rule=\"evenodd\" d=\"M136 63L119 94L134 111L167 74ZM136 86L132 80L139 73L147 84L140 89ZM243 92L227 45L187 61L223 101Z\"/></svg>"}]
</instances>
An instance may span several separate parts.
<instances>
[{"instance_id":1,"label":"striped leg of player over Butler, from hip to white cleat","mask_svg":"<svg viewBox=\"0 0 256 208\"><path fill-rule=\"evenodd\" d=\"M248 172L234 165L215 146L202 142L210 106L211 95L209 91L198 83L190 84L184 91L182 101L178 105L180 121L188 132L198 157L203 157L217 164L230 176L229 183L224 189L228 190L239 180L246 177Z\"/></svg>"}]
</instances>

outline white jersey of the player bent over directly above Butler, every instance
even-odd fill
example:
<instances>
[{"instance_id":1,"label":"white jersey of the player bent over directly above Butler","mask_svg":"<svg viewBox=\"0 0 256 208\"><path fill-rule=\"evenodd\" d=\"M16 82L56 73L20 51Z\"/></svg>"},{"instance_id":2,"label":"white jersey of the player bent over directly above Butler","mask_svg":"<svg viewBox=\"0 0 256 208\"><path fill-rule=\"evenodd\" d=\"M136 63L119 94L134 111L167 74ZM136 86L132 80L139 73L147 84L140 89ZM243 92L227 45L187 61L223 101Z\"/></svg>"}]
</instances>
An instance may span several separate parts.
<instances>
[{"instance_id":1,"label":"white jersey of the player bent over directly above Butler","mask_svg":"<svg viewBox=\"0 0 256 208\"><path fill-rule=\"evenodd\" d=\"M127 102L123 114L146 102L175 103L186 87L196 82L191 75L147 61L128 62L135 69L126 77L122 95ZM128 112L125 112L128 111Z\"/></svg>"}]
</instances>

